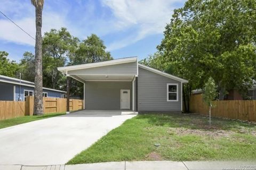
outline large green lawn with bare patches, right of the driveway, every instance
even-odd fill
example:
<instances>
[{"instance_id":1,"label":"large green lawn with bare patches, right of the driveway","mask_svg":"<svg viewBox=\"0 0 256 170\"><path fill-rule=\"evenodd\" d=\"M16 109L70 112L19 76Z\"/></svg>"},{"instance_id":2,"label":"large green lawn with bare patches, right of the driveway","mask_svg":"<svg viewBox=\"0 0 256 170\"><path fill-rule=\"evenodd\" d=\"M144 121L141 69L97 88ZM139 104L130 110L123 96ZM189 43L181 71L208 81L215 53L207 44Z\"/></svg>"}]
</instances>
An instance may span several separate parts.
<instances>
[{"instance_id":1,"label":"large green lawn with bare patches, right of the driveway","mask_svg":"<svg viewBox=\"0 0 256 170\"><path fill-rule=\"evenodd\" d=\"M256 125L193 114L138 115L67 164L256 159ZM155 147L160 143L160 147Z\"/></svg>"}]
</instances>

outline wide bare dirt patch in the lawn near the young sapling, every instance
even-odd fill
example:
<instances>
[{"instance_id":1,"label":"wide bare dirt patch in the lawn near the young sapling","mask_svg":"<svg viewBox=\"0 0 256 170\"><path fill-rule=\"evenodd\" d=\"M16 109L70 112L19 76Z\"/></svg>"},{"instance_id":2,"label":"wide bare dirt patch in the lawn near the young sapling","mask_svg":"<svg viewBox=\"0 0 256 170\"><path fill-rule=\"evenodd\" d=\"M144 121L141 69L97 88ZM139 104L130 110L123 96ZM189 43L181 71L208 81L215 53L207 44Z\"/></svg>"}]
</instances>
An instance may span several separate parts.
<instances>
[{"instance_id":1,"label":"wide bare dirt patch in the lawn near the young sapling","mask_svg":"<svg viewBox=\"0 0 256 170\"><path fill-rule=\"evenodd\" d=\"M198 130L198 129L186 129L186 128L170 128L169 130L170 132L174 132L178 135L195 134L195 135L209 136L214 138L230 137L230 135L234 134L233 131L225 131L225 130Z\"/></svg>"}]
</instances>

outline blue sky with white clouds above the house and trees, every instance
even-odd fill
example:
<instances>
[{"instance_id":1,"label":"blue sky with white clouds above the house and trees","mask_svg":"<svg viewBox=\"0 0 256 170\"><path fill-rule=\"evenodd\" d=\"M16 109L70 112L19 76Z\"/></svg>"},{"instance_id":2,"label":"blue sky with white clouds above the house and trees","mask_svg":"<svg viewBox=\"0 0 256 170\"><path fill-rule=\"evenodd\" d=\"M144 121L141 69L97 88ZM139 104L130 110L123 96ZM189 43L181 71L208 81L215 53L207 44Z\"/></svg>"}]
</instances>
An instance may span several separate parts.
<instances>
[{"instance_id":1,"label":"blue sky with white clouds above the house and trees","mask_svg":"<svg viewBox=\"0 0 256 170\"><path fill-rule=\"evenodd\" d=\"M110 40L108 50L129 46L150 36L163 33L166 23L170 22L175 3L185 0L101 0L103 8L95 1L76 0L45 2L43 10L42 34L52 28L66 27L79 38L86 38L90 33L107 36L118 33L123 38ZM3 1L0 10L35 37L35 7L30 1ZM74 6L72 6L74 5ZM58 6L58 8L56 8ZM101 6L102 7L102 6ZM15 10L10 10L14 9ZM110 9L111 14L108 13ZM99 13L102 13L100 15ZM99 14L99 15L97 15ZM0 40L16 44L35 45L35 40L22 32L17 26L0 14Z\"/></svg>"}]
</instances>

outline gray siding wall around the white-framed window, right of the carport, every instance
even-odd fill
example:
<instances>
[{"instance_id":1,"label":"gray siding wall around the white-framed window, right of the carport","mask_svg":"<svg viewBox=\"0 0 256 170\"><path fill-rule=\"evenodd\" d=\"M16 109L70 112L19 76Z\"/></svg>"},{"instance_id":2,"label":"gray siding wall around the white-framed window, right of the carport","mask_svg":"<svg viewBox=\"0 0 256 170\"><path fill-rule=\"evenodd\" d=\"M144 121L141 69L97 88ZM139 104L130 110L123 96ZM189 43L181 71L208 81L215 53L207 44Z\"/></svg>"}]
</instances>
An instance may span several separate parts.
<instances>
[{"instance_id":1,"label":"gray siding wall around the white-framed window, right of the carport","mask_svg":"<svg viewBox=\"0 0 256 170\"><path fill-rule=\"evenodd\" d=\"M179 101L167 101L167 83L179 84ZM181 111L180 82L139 67L138 111Z\"/></svg>"}]
</instances>

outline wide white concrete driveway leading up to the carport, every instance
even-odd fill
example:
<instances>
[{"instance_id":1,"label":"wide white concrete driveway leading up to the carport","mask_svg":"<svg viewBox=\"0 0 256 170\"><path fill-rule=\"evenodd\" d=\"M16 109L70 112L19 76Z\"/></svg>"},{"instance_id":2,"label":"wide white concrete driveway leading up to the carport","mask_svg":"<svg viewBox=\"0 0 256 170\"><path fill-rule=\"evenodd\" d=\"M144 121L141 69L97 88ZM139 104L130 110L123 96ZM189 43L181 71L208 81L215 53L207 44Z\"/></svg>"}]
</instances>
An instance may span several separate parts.
<instances>
[{"instance_id":1,"label":"wide white concrete driveway leading up to the carport","mask_svg":"<svg viewBox=\"0 0 256 170\"><path fill-rule=\"evenodd\" d=\"M65 164L135 114L79 111L0 130L0 165Z\"/></svg>"}]
</instances>

